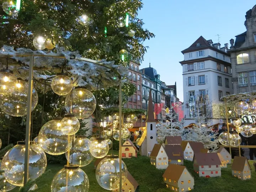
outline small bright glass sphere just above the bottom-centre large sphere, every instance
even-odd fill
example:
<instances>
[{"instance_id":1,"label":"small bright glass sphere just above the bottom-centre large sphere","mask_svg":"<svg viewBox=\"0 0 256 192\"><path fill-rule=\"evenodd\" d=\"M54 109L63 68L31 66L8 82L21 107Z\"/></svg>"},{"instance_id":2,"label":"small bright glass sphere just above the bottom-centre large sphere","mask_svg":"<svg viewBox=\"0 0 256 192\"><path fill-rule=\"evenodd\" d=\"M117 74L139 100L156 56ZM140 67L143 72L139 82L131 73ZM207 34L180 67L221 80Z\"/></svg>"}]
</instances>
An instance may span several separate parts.
<instances>
[{"instance_id":1,"label":"small bright glass sphere just above the bottom-centre large sphere","mask_svg":"<svg viewBox=\"0 0 256 192\"><path fill-rule=\"evenodd\" d=\"M92 156L95 158L105 157L109 150L108 143L103 138L96 138L93 142L91 142L89 148Z\"/></svg>"}]
</instances>

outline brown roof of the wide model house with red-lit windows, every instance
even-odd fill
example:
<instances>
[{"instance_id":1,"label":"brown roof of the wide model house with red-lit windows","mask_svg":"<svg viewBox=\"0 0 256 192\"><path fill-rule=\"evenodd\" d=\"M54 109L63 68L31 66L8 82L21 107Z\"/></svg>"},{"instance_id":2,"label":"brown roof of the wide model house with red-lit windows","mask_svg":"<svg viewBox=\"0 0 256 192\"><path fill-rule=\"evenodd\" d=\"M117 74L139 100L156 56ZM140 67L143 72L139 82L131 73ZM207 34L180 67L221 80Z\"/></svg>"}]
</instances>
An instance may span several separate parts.
<instances>
[{"instance_id":1,"label":"brown roof of the wide model house with red-lit windows","mask_svg":"<svg viewBox=\"0 0 256 192\"><path fill-rule=\"evenodd\" d=\"M196 160L199 166L201 165L221 165L217 153L195 153L193 161Z\"/></svg>"}]
</instances>

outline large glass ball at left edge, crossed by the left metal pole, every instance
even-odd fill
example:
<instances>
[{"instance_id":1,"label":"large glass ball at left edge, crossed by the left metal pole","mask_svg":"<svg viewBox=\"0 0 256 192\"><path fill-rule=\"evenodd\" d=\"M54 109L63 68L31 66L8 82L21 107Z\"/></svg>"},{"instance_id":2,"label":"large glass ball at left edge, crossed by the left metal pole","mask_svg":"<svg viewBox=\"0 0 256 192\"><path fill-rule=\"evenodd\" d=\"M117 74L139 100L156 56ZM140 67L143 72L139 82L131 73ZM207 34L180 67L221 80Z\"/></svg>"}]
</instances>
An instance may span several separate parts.
<instances>
[{"instance_id":1,"label":"large glass ball at left edge, crossed by the left metal pole","mask_svg":"<svg viewBox=\"0 0 256 192\"><path fill-rule=\"evenodd\" d=\"M28 82L18 80L15 85L15 91L9 95L0 96L0 108L6 114L14 117L22 117L27 114L27 96ZM32 106L33 111L38 102L37 91L32 90Z\"/></svg>"}]
</instances>

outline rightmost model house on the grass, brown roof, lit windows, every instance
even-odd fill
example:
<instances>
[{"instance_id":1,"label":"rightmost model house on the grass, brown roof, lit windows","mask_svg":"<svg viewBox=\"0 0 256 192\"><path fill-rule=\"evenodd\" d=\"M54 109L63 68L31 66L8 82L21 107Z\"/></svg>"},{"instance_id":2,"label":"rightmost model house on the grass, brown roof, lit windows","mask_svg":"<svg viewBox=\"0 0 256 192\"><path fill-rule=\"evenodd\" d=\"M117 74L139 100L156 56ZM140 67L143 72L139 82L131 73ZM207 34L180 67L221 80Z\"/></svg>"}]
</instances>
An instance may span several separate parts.
<instances>
[{"instance_id":1,"label":"rightmost model house on the grass, brown roof, lit windows","mask_svg":"<svg viewBox=\"0 0 256 192\"><path fill-rule=\"evenodd\" d=\"M241 180L251 178L251 167L246 157L235 156L231 167L232 175Z\"/></svg>"}]
</instances>

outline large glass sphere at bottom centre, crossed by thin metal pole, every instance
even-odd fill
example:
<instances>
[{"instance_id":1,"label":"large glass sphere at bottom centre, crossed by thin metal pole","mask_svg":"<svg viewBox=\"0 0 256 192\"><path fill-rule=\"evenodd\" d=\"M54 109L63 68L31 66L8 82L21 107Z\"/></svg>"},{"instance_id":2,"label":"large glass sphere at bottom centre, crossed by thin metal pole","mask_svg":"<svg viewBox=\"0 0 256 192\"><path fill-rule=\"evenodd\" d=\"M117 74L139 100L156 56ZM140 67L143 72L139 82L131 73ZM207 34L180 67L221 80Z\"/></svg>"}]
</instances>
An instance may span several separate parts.
<instances>
[{"instance_id":1,"label":"large glass sphere at bottom centre, crossed by thin metal pole","mask_svg":"<svg viewBox=\"0 0 256 192\"><path fill-rule=\"evenodd\" d=\"M122 184L127 179L127 167L123 161L122 165ZM119 188L119 158L116 155L108 155L101 160L96 169L96 179L98 184L106 190L115 190Z\"/></svg>"}]
</instances>

